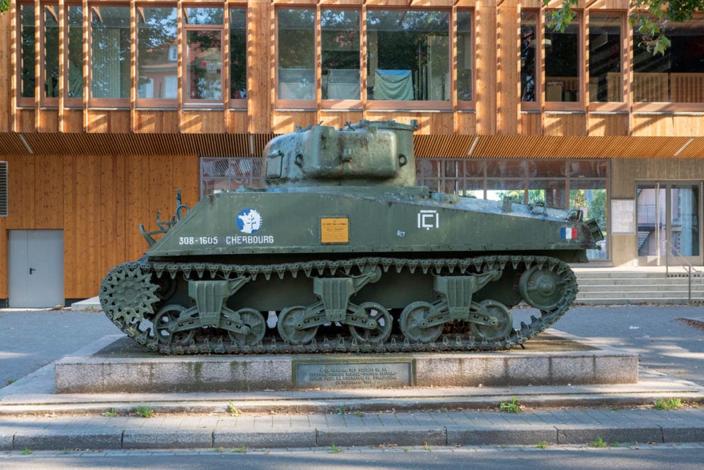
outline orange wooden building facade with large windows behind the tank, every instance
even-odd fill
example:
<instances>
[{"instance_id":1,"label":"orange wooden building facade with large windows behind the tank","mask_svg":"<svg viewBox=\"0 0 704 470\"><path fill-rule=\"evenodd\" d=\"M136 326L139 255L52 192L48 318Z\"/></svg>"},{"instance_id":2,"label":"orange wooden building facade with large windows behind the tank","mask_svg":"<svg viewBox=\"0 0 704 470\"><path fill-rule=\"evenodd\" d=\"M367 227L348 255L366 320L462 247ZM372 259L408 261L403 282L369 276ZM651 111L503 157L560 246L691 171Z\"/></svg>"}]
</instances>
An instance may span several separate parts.
<instances>
[{"instance_id":1,"label":"orange wooden building facade with large windows behind the tank","mask_svg":"<svg viewBox=\"0 0 704 470\"><path fill-rule=\"evenodd\" d=\"M653 56L627 0L582 2L562 33L547 11L540 0L11 0L0 15L0 299L13 304L16 231L60 231L63 297L92 297L109 268L144 252L137 227L171 214L176 188L198 201L204 158L257 159L296 125L360 119L418 120L416 154L436 172L424 183L439 189L458 180L446 162L484 195L515 189L501 186L508 173L492 179L491 162L553 162L536 188L548 194L554 177L566 206L572 188L590 187L579 178L603 181L610 265L661 261L684 188L678 249L702 264L704 19L675 27L684 42ZM570 176L580 161L605 173ZM470 175L477 162L483 179ZM660 201L663 190L674 192ZM646 193L658 220L639 209ZM644 252L643 233L667 216L655 254Z\"/></svg>"}]
</instances>

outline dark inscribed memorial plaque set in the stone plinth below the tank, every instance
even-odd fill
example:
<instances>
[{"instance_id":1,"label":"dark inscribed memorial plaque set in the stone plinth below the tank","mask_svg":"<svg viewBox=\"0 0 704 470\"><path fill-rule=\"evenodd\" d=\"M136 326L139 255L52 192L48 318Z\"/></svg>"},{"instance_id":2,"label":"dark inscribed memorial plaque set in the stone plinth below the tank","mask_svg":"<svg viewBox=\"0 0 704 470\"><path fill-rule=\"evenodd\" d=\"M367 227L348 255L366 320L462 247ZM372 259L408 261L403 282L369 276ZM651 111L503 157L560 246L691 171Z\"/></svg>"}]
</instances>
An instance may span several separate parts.
<instances>
[{"instance_id":1,"label":"dark inscribed memorial plaque set in the stone plinth below the tank","mask_svg":"<svg viewBox=\"0 0 704 470\"><path fill-rule=\"evenodd\" d=\"M408 362L298 363L296 385L300 388L384 388L408 387Z\"/></svg>"}]
</instances>

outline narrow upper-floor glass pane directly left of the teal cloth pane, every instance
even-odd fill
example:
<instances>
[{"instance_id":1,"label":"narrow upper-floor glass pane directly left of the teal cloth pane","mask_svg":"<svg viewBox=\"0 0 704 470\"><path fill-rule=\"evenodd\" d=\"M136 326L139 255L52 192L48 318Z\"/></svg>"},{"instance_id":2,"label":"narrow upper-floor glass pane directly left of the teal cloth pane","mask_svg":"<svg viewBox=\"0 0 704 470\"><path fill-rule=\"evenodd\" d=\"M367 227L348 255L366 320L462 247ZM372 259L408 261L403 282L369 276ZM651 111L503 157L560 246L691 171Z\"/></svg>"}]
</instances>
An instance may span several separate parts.
<instances>
[{"instance_id":1,"label":"narrow upper-floor glass pane directly left of the teal cloth pane","mask_svg":"<svg viewBox=\"0 0 704 470\"><path fill-rule=\"evenodd\" d=\"M322 99L360 99L359 11L322 10Z\"/></svg>"}]
</instances>

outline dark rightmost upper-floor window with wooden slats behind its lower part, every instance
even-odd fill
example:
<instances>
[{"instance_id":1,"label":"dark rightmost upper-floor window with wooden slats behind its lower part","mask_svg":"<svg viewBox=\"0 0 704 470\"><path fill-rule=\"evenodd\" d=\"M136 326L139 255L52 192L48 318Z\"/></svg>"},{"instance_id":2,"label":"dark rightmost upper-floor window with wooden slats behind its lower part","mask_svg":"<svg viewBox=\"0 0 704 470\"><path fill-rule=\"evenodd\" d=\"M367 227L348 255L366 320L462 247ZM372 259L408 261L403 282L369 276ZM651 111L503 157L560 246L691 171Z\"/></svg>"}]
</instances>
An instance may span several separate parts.
<instances>
[{"instance_id":1,"label":"dark rightmost upper-floor window with wooden slats behind its lower part","mask_svg":"<svg viewBox=\"0 0 704 470\"><path fill-rule=\"evenodd\" d=\"M633 101L704 103L704 24L670 23L672 45L653 56L650 37L633 33Z\"/></svg>"}]
</instances>

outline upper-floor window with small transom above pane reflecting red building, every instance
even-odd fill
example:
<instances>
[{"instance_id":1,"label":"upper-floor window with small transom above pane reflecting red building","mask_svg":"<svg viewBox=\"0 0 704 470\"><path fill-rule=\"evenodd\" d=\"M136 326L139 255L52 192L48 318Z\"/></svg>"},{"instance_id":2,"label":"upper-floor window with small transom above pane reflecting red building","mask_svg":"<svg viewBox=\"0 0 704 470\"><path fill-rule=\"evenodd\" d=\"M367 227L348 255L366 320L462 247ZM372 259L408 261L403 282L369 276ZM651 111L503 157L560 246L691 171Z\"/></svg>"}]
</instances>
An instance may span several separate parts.
<instances>
[{"instance_id":1,"label":"upper-floor window with small transom above pane reflecting red building","mask_svg":"<svg viewBox=\"0 0 704 470\"><path fill-rule=\"evenodd\" d=\"M184 9L184 104L222 104L223 8Z\"/></svg>"}]
</instances>

